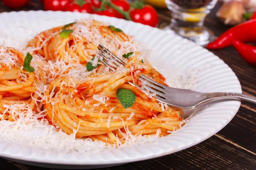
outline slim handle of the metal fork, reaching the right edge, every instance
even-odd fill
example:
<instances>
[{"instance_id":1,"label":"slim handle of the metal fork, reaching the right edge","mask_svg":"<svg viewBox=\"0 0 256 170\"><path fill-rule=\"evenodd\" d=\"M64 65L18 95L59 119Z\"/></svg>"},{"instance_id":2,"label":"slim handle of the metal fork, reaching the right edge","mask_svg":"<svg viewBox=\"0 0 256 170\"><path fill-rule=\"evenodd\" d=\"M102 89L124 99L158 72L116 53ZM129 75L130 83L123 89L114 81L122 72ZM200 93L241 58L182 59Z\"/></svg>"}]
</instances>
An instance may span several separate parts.
<instances>
[{"instance_id":1,"label":"slim handle of the metal fork, reaching the right edge","mask_svg":"<svg viewBox=\"0 0 256 170\"><path fill-rule=\"evenodd\" d=\"M239 93L210 93L207 94L210 101L220 101L220 100L244 100L247 102L252 102L256 104L256 97L249 96L246 94Z\"/></svg>"}]
</instances>

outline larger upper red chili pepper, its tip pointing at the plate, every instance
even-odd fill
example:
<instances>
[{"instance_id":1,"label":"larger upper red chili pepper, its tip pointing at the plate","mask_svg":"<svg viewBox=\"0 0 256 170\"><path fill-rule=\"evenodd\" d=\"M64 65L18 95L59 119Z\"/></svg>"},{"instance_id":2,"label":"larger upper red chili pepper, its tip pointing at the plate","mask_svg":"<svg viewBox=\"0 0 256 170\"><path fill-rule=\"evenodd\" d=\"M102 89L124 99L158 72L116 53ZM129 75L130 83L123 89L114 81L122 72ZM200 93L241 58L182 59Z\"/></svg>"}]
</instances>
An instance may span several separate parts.
<instances>
[{"instance_id":1,"label":"larger upper red chili pepper, its tip pointing at the plate","mask_svg":"<svg viewBox=\"0 0 256 170\"><path fill-rule=\"evenodd\" d=\"M256 41L256 20L249 20L230 28L214 42L207 45L208 49L221 49L233 45L235 40L239 42Z\"/></svg>"}]
</instances>

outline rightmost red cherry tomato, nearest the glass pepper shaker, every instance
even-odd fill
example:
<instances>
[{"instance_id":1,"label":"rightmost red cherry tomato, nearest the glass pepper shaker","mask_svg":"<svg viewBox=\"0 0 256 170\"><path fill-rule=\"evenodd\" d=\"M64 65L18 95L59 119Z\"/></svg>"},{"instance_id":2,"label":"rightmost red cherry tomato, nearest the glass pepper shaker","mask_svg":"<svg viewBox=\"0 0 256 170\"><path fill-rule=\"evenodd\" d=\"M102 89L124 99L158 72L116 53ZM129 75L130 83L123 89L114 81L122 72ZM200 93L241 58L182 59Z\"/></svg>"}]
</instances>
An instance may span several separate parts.
<instances>
[{"instance_id":1,"label":"rightmost red cherry tomato, nearest the glass pepper shaker","mask_svg":"<svg viewBox=\"0 0 256 170\"><path fill-rule=\"evenodd\" d=\"M142 23L152 27L156 27L158 24L157 11L150 5L145 5L141 9L132 9L130 17L136 23Z\"/></svg>"}]
</instances>

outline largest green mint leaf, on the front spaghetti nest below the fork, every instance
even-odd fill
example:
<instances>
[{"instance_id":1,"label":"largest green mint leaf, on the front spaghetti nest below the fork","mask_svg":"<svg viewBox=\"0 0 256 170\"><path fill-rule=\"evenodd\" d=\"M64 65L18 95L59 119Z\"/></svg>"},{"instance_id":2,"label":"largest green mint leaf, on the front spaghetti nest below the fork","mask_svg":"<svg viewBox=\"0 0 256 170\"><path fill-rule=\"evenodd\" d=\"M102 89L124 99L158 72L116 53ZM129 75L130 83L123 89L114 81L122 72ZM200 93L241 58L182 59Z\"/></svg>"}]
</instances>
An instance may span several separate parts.
<instances>
[{"instance_id":1,"label":"largest green mint leaf, on the front spaghetti nest below the fork","mask_svg":"<svg viewBox=\"0 0 256 170\"><path fill-rule=\"evenodd\" d=\"M131 108L137 98L133 91L124 88L117 89L116 97L125 109Z\"/></svg>"}]
</instances>

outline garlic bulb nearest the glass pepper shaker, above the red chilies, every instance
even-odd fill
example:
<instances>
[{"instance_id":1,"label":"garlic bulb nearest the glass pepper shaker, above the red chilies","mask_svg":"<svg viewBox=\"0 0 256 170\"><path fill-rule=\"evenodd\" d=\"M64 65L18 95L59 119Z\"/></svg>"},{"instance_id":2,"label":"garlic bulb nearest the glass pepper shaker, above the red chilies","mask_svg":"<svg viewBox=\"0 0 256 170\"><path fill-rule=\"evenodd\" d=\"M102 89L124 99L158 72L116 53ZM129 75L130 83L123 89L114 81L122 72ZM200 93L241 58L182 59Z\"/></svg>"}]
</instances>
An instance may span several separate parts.
<instances>
[{"instance_id":1,"label":"garlic bulb nearest the glass pepper shaker, above the red chilies","mask_svg":"<svg viewBox=\"0 0 256 170\"><path fill-rule=\"evenodd\" d=\"M226 25L236 25L243 22L245 8L242 0L231 0L224 3L217 12L219 17Z\"/></svg>"}]
</instances>

